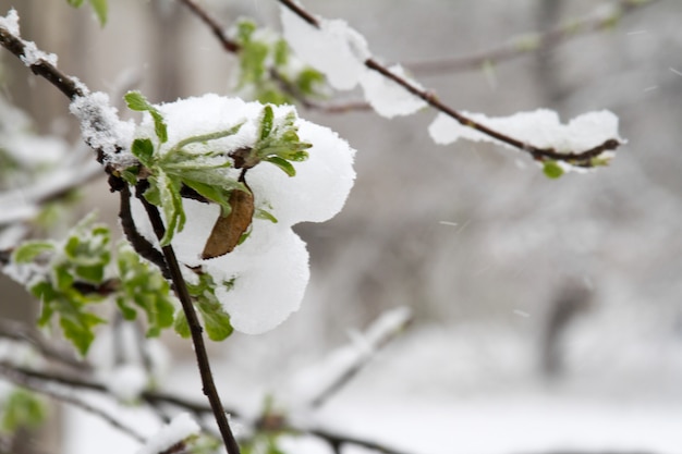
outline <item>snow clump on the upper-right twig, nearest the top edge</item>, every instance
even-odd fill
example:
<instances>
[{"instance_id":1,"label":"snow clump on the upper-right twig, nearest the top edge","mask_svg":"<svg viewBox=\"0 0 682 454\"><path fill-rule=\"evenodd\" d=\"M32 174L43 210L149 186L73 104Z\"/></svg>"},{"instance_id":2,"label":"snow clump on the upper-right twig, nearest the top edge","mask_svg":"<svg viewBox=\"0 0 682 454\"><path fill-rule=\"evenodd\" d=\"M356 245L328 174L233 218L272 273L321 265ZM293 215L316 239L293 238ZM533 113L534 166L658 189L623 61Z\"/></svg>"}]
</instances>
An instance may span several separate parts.
<instances>
[{"instance_id":1,"label":"snow clump on the upper-right twig, nearest the top edge","mask_svg":"<svg viewBox=\"0 0 682 454\"><path fill-rule=\"evenodd\" d=\"M284 7L281 20L289 46L303 61L322 72L332 87L348 90L357 85L370 56L360 33L344 21L321 17L320 27L316 28Z\"/></svg>"}]
</instances>

